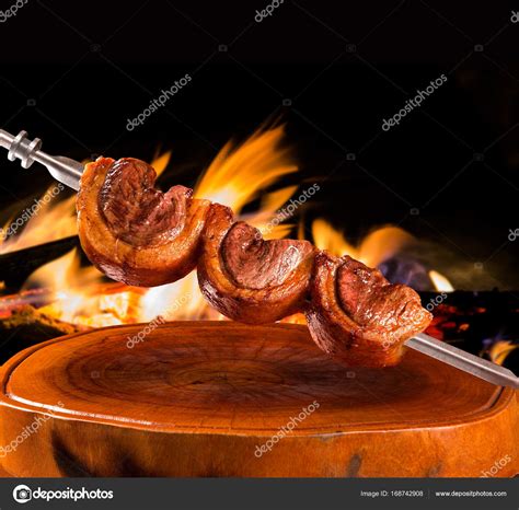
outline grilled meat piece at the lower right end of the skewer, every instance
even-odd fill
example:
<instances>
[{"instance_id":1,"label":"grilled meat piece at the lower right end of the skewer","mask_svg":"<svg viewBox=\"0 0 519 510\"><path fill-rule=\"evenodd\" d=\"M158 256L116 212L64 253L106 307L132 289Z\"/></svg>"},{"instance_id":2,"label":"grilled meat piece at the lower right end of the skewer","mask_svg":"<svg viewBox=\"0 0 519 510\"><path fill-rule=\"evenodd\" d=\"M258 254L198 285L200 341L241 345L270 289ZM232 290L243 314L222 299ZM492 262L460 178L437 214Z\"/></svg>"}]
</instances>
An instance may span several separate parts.
<instances>
[{"instance_id":1,"label":"grilled meat piece at the lower right end of the skewer","mask_svg":"<svg viewBox=\"0 0 519 510\"><path fill-rule=\"evenodd\" d=\"M349 256L315 256L308 325L318 346L345 364L399 363L403 343L431 317L413 289L391 285L378 269Z\"/></svg>"}]
</instances>

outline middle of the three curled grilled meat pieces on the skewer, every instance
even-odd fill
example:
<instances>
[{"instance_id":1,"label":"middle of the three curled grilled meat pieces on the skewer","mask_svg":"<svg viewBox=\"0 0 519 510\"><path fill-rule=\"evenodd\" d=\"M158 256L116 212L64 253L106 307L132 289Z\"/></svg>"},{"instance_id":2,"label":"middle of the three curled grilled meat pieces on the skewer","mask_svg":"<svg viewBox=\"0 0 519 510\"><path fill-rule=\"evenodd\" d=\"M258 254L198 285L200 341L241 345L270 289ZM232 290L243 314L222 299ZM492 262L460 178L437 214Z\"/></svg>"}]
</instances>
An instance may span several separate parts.
<instances>
[{"instance_id":1,"label":"middle of the three curled grilled meat pieces on the skewer","mask_svg":"<svg viewBox=\"0 0 519 510\"><path fill-rule=\"evenodd\" d=\"M264 241L232 210L215 204L203 234L198 283L229 318L263 324L303 310L313 267L308 241Z\"/></svg>"}]
</instances>

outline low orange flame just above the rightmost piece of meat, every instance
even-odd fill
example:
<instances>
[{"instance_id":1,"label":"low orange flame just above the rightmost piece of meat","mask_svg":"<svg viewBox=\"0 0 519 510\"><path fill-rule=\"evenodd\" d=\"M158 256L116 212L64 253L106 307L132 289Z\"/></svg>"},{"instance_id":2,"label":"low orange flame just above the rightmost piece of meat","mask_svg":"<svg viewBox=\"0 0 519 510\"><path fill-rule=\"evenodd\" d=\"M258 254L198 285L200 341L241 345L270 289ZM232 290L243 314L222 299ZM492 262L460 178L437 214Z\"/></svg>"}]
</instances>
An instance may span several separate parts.
<instances>
[{"instance_id":1,"label":"low orange flame just above the rightmost piece of meat","mask_svg":"<svg viewBox=\"0 0 519 510\"><path fill-rule=\"evenodd\" d=\"M414 241L413 235L399 227L382 227L369 233L358 246L349 244L344 233L323 219L312 223L312 236L320 250L342 257L349 255L370 267L377 267Z\"/></svg>"}]
</instances>

